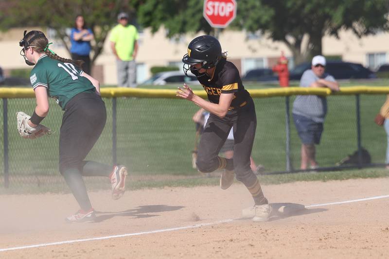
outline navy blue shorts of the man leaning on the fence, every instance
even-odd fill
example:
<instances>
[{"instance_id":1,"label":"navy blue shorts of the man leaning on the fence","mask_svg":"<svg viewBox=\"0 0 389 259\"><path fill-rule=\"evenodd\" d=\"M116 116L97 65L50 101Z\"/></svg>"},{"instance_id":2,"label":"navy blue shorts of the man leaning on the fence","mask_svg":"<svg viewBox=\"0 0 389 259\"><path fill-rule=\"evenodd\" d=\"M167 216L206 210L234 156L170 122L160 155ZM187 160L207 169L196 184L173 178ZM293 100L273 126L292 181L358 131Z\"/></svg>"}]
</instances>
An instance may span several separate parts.
<instances>
[{"instance_id":1,"label":"navy blue shorts of the man leaning on the fence","mask_svg":"<svg viewBox=\"0 0 389 259\"><path fill-rule=\"evenodd\" d=\"M297 133L303 144L319 144L323 123L312 121L311 119L293 113Z\"/></svg>"}]
</instances>

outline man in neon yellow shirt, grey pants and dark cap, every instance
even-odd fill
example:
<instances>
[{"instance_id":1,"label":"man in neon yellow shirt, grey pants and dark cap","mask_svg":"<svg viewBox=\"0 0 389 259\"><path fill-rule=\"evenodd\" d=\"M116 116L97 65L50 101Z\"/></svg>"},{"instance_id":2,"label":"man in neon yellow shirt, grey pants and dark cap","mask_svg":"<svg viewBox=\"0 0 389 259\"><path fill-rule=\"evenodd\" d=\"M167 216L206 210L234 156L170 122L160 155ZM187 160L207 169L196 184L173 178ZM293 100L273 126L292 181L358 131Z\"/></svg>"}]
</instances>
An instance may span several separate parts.
<instances>
[{"instance_id":1,"label":"man in neon yellow shirt, grey pants and dark cap","mask_svg":"<svg viewBox=\"0 0 389 259\"><path fill-rule=\"evenodd\" d=\"M138 31L134 25L128 24L128 14L118 15L116 25L109 36L112 52L116 56L118 86L136 87L136 63L138 52Z\"/></svg>"}]
</instances>

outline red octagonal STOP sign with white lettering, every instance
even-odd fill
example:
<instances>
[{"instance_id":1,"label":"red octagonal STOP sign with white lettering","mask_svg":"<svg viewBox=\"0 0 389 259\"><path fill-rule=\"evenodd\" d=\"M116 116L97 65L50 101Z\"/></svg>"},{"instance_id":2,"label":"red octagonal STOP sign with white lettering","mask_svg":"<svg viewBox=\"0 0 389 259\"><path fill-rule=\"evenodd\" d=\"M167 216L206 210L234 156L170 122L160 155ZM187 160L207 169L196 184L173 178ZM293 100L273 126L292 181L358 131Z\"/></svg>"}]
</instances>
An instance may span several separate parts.
<instances>
[{"instance_id":1,"label":"red octagonal STOP sign with white lettering","mask_svg":"<svg viewBox=\"0 0 389 259\"><path fill-rule=\"evenodd\" d=\"M203 16L214 28L226 28L236 16L235 0L204 0Z\"/></svg>"}]
</instances>

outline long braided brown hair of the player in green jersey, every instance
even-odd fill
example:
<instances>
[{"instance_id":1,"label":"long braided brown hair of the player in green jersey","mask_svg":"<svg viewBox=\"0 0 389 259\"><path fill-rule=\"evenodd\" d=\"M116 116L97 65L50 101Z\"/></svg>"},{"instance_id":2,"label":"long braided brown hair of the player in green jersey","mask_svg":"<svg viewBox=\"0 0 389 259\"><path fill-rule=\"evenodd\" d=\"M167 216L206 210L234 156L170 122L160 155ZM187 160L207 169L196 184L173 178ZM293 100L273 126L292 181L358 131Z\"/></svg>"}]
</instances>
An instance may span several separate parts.
<instances>
[{"instance_id":1,"label":"long braided brown hair of the player in green jersey","mask_svg":"<svg viewBox=\"0 0 389 259\"><path fill-rule=\"evenodd\" d=\"M54 52L51 52L48 49L49 46L49 40L47 37L41 32L41 31L31 31L28 34L25 35L25 40L30 40L34 35L36 34L42 34L41 37L35 38L32 42L30 42L30 46L34 49L34 51L38 53L45 53L47 54L50 58L64 62L64 63L71 63L76 65L77 67L81 68L82 64L84 64L84 61L82 60L71 60L69 58L63 58L55 54Z\"/></svg>"}]
</instances>

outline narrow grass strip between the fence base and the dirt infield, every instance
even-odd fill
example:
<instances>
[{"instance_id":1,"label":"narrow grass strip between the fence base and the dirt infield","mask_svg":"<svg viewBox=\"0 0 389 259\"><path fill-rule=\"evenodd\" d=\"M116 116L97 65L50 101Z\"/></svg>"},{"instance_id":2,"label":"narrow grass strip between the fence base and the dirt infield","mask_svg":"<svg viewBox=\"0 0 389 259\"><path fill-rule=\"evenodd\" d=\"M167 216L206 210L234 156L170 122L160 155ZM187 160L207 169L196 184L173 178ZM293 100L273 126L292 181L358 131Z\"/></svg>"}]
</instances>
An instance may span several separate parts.
<instances>
[{"instance_id":1,"label":"narrow grass strip between the fence base and the dirt infield","mask_svg":"<svg viewBox=\"0 0 389 259\"><path fill-rule=\"evenodd\" d=\"M162 175L159 175L162 176ZM389 177L389 171L385 169L362 169L362 170L347 170L335 172L321 172L321 173L287 173L275 175L259 175L261 185L269 184L283 184L297 181L322 181L327 182L331 180L347 180L347 179L367 179L367 178L382 178ZM44 177L39 176L41 180ZM18 177L20 180L20 177ZM5 189L0 187L1 194L20 194L20 193L69 193L70 190L66 186L61 176L46 176L49 180L46 183L36 184L35 181L23 182L22 184L15 184L11 188ZM31 180L31 178L30 178ZM235 180L236 181L236 180ZM104 177L87 177L85 178L88 190L109 190L110 185ZM184 177L151 177L142 179L140 177L130 176L127 181L127 190L139 190L150 188L168 188L168 187L195 187L195 186L215 186L219 185L219 177L214 175L208 177L206 175L197 173L194 175L185 175Z\"/></svg>"}]
</instances>

